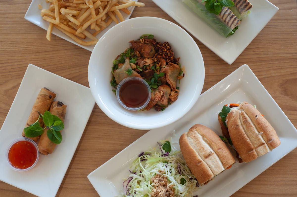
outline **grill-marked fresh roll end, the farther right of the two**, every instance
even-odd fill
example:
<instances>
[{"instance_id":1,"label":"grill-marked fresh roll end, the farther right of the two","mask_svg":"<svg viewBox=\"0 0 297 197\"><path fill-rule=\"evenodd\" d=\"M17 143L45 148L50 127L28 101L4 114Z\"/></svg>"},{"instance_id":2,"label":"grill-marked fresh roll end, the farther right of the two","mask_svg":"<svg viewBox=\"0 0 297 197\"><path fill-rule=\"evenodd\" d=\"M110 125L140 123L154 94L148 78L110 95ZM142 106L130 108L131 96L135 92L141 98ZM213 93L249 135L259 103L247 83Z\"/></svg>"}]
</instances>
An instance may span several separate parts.
<instances>
[{"instance_id":1,"label":"grill-marked fresh roll end, the farther right of the two","mask_svg":"<svg viewBox=\"0 0 297 197\"><path fill-rule=\"evenodd\" d=\"M234 3L234 6L230 7L232 12L236 15L239 20L247 17L251 12L252 4L248 0L231 0Z\"/></svg>"}]
</instances>

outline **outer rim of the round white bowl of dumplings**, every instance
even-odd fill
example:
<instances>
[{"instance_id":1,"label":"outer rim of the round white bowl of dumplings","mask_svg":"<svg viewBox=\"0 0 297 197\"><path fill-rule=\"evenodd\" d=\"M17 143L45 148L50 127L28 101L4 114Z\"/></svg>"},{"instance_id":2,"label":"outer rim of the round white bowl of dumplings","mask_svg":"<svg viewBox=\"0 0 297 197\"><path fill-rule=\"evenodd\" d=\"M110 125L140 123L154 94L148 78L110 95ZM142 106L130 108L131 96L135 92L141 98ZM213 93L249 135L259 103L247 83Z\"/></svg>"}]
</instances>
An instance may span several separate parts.
<instances>
[{"instance_id":1,"label":"outer rim of the round white bowl of dumplings","mask_svg":"<svg viewBox=\"0 0 297 197\"><path fill-rule=\"evenodd\" d=\"M94 59L96 56L95 53L97 51L97 48L99 48L99 45L101 43L101 41L103 39L105 39L105 37L110 33L113 32L114 29L119 28L120 26L124 26L124 25L128 25L130 23L133 23L137 20L141 20L144 24L145 24L145 20L156 20L158 23L163 23L163 24L169 24L172 25L173 28L176 28L177 30L179 30L180 32L182 32L184 34L184 36L189 39L189 41L191 41L192 43L195 43L195 46L197 51L199 51L198 54L195 54L195 56L199 56L199 58L201 59L201 65L202 65L202 69L200 72L202 73L203 78L201 77L201 80L203 81L201 87L196 88L195 93L193 94L193 100L191 102L191 104L189 104L187 106L187 110L184 110L183 112L179 113L178 117L175 118L171 118L170 120L168 120L166 123L164 122L158 122L156 124L150 124L150 125L139 125L137 123L131 124L131 123L126 123L126 122L121 122L118 119L116 119L115 116L112 116L112 114L110 114L110 111L108 109L108 107L102 103L101 99L97 98L97 91L95 90L96 85L93 84L93 78L91 78L91 60ZM88 65L88 81L89 81L89 87L91 90L91 93L96 101L96 104L99 106L99 108L102 110L102 112L104 112L110 119L112 119L113 121L125 126L125 127L129 127L132 129L140 129L140 130L151 130L151 129L155 129L155 128L159 128L159 127L164 127L166 125L169 125L173 122L175 122L176 120L178 120L179 118L183 117L185 114L187 114L189 112L190 109L192 109L192 107L195 105L195 103L197 102L201 92L202 92L202 88L203 88L203 84L204 84L204 79L205 79L205 67L204 67L204 61L203 61L203 57L201 54L201 51L197 45L197 43L195 42L195 40L192 38L191 35L189 35L189 33L187 33L186 30L184 30L183 28L181 28L180 26L176 25L175 23L162 19L162 18L158 18L158 17L135 17L135 18L130 18L128 20L125 20L123 22L120 22L119 24L113 26L112 28L110 28L105 34L102 35L102 37L99 39L99 41L97 42L97 44L94 47L94 50L91 53L90 59L89 59L89 65ZM124 115L124 114L123 114Z\"/></svg>"}]
</instances>

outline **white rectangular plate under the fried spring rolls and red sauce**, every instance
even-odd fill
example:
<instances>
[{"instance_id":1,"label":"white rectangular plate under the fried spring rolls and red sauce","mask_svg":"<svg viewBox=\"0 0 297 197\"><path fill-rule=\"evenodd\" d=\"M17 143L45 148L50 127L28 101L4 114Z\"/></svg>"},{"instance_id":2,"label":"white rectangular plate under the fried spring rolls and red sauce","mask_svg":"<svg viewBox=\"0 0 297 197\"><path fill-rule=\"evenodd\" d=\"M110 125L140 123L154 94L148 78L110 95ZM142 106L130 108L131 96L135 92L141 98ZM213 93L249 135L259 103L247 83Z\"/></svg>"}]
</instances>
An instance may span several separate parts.
<instances>
[{"instance_id":1,"label":"white rectangular plate under the fried spring rolls and red sauce","mask_svg":"<svg viewBox=\"0 0 297 197\"><path fill-rule=\"evenodd\" d=\"M53 154L40 155L34 168L16 172L4 159L6 147L22 135L34 101L43 87L57 94L55 101L67 105L62 142ZM0 180L36 196L56 196L94 104L89 88L29 64L0 130Z\"/></svg>"}]
</instances>

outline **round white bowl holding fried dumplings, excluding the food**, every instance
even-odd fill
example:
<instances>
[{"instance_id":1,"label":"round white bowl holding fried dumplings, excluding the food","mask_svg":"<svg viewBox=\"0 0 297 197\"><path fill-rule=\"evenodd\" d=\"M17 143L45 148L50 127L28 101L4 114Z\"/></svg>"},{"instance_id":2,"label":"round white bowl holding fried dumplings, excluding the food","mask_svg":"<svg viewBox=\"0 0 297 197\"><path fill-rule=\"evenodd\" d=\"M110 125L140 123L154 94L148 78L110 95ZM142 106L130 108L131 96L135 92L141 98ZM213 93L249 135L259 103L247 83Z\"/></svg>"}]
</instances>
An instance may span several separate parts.
<instances>
[{"instance_id":1,"label":"round white bowl holding fried dumplings, excluding the food","mask_svg":"<svg viewBox=\"0 0 297 197\"><path fill-rule=\"evenodd\" d=\"M164 111L130 111L119 104L112 91L112 62L129 47L129 41L149 33L157 42L169 42L185 75L177 83L178 99ZM137 17L115 25L100 38L90 57L88 78L96 103L108 117L126 127L148 130L175 122L194 106L204 83L204 62L193 38L178 25L156 17Z\"/></svg>"}]
</instances>

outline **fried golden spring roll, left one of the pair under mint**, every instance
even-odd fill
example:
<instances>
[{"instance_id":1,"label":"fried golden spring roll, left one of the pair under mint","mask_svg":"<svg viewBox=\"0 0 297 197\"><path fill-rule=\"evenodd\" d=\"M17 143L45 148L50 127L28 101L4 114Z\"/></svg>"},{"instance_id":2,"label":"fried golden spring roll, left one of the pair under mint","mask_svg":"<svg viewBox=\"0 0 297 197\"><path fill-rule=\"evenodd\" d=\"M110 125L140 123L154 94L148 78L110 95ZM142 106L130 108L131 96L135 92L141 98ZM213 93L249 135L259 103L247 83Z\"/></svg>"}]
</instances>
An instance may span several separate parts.
<instances>
[{"instance_id":1,"label":"fried golden spring roll, left one of the pair under mint","mask_svg":"<svg viewBox=\"0 0 297 197\"><path fill-rule=\"evenodd\" d=\"M52 91L50 91L48 88L41 88L41 90L37 96L37 99L35 100L35 102L33 104L32 111L29 115L29 118L27 120L25 127L30 126L31 124L33 124L34 122L36 122L38 120L39 114L37 111L39 111L40 114L44 114L45 111L50 109L50 106L53 103L53 100L55 97L56 97L56 94L53 93ZM41 118L39 119L38 122L40 123L40 126L43 127L44 123ZM24 130L23 130L22 135L23 135L23 137L26 137ZM38 137L39 136L31 138L31 139L34 140L35 142L37 142Z\"/></svg>"}]
</instances>

